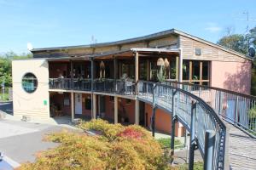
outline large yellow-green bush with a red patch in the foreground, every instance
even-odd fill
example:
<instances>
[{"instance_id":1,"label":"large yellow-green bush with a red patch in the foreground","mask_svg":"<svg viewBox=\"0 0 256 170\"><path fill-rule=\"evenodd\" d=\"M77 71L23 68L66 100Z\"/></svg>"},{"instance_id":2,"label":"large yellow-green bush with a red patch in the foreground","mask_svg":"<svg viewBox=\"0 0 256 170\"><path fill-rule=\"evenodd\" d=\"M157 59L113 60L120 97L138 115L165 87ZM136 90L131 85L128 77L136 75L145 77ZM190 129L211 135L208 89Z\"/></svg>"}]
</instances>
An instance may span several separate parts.
<instances>
[{"instance_id":1,"label":"large yellow-green bush with a red patch in the foreground","mask_svg":"<svg viewBox=\"0 0 256 170\"><path fill-rule=\"evenodd\" d=\"M19 169L171 169L160 144L143 127L123 127L102 120L81 122L78 127L102 135L52 133L46 139L61 144L38 154L34 163L22 164Z\"/></svg>"}]
</instances>

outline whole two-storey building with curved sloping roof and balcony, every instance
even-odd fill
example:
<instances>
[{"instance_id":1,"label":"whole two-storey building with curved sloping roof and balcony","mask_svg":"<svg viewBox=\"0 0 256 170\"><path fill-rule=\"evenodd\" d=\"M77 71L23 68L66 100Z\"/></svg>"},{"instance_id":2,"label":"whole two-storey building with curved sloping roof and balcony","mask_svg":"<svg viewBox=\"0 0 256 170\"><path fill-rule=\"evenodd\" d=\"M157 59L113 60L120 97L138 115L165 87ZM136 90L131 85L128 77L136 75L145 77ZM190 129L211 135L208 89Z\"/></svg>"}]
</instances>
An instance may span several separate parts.
<instances>
[{"instance_id":1,"label":"whole two-storey building with curved sloping roof and balcony","mask_svg":"<svg viewBox=\"0 0 256 170\"><path fill-rule=\"evenodd\" d=\"M14 115L67 115L149 127L152 106L137 99L142 81L189 82L250 93L252 59L175 29L118 42L32 49L14 60ZM160 74L163 71L163 74ZM140 82L138 82L140 81ZM170 133L171 116L156 110L156 129ZM176 135L183 126L176 124Z\"/></svg>"}]
</instances>

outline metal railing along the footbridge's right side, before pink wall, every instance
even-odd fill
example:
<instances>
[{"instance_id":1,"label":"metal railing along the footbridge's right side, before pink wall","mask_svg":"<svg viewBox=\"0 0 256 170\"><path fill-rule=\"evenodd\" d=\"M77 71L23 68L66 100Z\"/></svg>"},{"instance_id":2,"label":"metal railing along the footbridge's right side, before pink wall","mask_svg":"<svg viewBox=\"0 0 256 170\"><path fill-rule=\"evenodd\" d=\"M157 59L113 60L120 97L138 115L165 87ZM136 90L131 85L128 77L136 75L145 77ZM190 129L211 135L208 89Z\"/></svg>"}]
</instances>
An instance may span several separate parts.
<instances>
[{"instance_id":1,"label":"metal railing along the footbridge's right side, before pink wall","mask_svg":"<svg viewBox=\"0 0 256 170\"><path fill-rule=\"evenodd\" d=\"M182 88L195 94L225 121L240 127L256 138L256 97L240 94L223 88L189 84L186 82L165 82L172 87Z\"/></svg>"}]
</instances>

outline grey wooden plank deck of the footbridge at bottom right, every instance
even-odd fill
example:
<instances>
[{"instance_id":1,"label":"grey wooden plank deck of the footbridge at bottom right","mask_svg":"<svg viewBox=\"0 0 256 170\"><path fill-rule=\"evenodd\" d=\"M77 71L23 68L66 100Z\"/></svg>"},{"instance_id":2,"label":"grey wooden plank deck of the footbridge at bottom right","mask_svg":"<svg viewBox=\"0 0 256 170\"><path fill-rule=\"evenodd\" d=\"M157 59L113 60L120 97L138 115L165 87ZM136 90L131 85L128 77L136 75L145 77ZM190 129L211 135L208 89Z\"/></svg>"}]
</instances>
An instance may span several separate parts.
<instances>
[{"instance_id":1,"label":"grey wooden plank deck of the footbridge at bottom right","mask_svg":"<svg viewBox=\"0 0 256 170\"><path fill-rule=\"evenodd\" d=\"M256 169L256 139L230 125L230 169Z\"/></svg>"}]
</instances>

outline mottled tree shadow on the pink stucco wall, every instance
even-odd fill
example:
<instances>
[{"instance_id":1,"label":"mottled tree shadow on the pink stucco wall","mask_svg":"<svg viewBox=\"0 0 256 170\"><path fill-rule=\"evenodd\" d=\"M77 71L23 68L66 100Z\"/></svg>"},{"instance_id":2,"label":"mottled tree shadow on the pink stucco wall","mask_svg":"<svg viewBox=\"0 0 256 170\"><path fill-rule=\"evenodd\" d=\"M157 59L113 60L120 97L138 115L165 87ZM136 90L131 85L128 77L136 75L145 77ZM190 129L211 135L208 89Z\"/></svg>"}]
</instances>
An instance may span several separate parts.
<instances>
[{"instance_id":1,"label":"mottled tree shadow on the pink stucco wall","mask_svg":"<svg viewBox=\"0 0 256 170\"><path fill-rule=\"evenodd\" d=\"M250 62L236 66L236 73L225 73L224 88L242 94L250 94L251 74Z\"/></svg>"}]
</instances>

